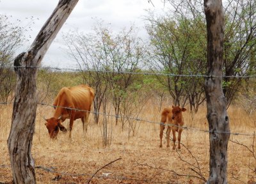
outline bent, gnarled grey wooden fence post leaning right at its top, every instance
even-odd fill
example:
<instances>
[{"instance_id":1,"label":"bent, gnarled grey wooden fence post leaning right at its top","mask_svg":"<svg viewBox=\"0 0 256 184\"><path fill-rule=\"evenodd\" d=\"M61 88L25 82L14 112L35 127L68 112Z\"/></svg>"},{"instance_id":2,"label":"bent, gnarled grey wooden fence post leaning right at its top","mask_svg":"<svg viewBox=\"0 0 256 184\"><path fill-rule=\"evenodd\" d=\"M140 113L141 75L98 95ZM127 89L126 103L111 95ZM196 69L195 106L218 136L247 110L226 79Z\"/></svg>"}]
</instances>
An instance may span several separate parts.
<instances>
[{"instance_id":1,"label":"bent, gnarled grey wooden fence post leaning right at its top","mask_svg":"<svg viewBox=\"0 0 256 184\"><path fill-rule=\"evenodd\" d=\"M36 67L40 65L47 49L77 1L60 0L28 52L23 52L15 58L17 84L12 128L7 141L14 183L36 183L35 163L31 155L36 117Z\"/></svg>"}]
</instances>

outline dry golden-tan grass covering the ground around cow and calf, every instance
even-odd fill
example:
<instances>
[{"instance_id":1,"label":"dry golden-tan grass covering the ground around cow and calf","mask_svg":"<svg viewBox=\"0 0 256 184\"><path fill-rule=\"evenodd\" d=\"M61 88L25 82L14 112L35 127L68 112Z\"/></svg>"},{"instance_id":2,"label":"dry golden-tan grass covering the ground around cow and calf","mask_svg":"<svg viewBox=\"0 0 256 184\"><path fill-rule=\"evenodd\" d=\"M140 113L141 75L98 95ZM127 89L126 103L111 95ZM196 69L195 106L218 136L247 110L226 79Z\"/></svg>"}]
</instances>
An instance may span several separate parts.
<instances>
[{"instance_id":1,"label":"dry golden-tan grass covering the ground around cow and calf","mask_svg":"<svg viewBox=\"0 0 256 184\"><path fill-rule=\"evenodd\" d=\"M201 109L193 118L189 112L184 112L185 126L207 130L205 109ZM146 110L141 112L141 118L159 121L159 112L154 107L147 105ZM0 112L0 183L11 183L12 172L6 141L10 131L12 105L0 105ZM198 174L191 170L198 171L197 162L202 175L208 178L209 135L205 132L184 130L182 143L191 153L184 146L177 152L165 148L165 140L164 148L159 148L159 125L134 121L137 123L136 131L129 136L127 125L122 131L120 125L115 126L114 119L109 119L108 137L111 137L111 144L104 148L102 125L95 125L92 115L86 135L83 136L82 123L77 120L72 131L72 141L63 132L59 133L57 140L50 140L42 116L48 117L51 114L50 107L38 107L32 148L37 183L87 183L97 169L117 158L122 159L101 169L91 183L204 183L195 178ZM232 132L253 134L256 114L248 116L243 109L237 107L231 107L228 114ZM67 127L67 123L64 125ZM252 149L253 137L231 135L230 140L237 140ZM229 183L256 183L255 168L256 160L252 153L244 146L229 142ZM105 177L104 173L110 174Z\"/></svg>"}]
</instances>

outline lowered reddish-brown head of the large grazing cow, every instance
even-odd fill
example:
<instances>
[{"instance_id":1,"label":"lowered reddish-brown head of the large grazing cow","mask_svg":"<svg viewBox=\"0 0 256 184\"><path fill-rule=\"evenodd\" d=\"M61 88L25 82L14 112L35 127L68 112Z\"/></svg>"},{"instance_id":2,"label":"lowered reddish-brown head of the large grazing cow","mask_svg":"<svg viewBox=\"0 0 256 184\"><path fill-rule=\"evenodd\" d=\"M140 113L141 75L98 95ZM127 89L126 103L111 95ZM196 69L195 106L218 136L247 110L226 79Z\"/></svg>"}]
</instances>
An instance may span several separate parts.
<instances>
[{"instance_id":1,"label":"lowered reddish-brown head of the large grazing cow","mask_svg":"<svg viewBox=\"0 0 256 184\"><path fill-rule=\"evenodd\" d=\"M60 118L49 118L45 119L45 126L48 129L49 135L52 139L56 138L59 132L59 128L63 132L67 132L67 129L61 124Z\"/></svg>"}]
</instances>

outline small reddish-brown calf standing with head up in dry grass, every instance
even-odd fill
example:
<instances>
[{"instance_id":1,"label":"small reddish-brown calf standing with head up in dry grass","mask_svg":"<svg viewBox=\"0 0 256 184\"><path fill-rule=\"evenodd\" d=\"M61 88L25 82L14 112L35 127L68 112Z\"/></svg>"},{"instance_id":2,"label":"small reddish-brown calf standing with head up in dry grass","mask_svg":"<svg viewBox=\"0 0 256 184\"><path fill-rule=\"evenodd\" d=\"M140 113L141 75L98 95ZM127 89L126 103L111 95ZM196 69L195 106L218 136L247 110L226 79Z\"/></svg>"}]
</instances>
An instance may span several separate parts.
<instances>
[{"instance_id":1,"label":"small reddish-brown calf standing with head up in dry grass","mask_svg":"<svg viewBox=\"0 0 256 184\"><path fill-rule=\"evenodd\" d=\"M180 108L179 106L172 106L164 108L161 113L161 125L160 125L160 148L163 147L162 144L162 138L163 138L163 130L164 130L164 123L167 122L167 125L169 124L167 128L167 135L166 135L166 141L167 141L167 148L170 147L170 132L172 130L173 134L173 150L175 150L175 141L176 141L176 132L178 132L178 149L180 149L180 138L181 138L181 132L182 132L182 126L184 125L184 121L182 118L182 112L185 112L185 108ZM173 126L171 126L173 125Z\"/></svg>"}]
</instances>

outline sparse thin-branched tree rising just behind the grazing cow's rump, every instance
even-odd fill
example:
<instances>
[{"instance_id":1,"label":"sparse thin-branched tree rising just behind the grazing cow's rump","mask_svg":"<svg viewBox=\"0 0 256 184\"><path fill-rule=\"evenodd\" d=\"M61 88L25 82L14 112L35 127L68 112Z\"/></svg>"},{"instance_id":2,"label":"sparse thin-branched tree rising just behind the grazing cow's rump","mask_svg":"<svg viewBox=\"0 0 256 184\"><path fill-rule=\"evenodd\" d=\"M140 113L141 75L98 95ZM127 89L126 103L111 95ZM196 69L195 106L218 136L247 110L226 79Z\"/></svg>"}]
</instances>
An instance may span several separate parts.
<instances>
[{"instance_id":1,"label":"sparse thin-branched tree rising just behind the grazing cow's rump","mask_svg":"<svg viewBox=\"0 0 256 184\"><path fill-rule=\"evenodd\" d=\"M95 112L99 112L102 103L105 102L104 96L108 88L106 73L100 72L104 70L101 63L105 59L106 52L102 49L102 40L99 37L98 30L95 28L94 31L95 34L72 31L63 35L63 38L67 43L66 51L68 56L79 65L83 82L95 89L93 108ZM94 117L95 123L98 123L99 114L95 113Z\"/></svg>"}]
</instances>

